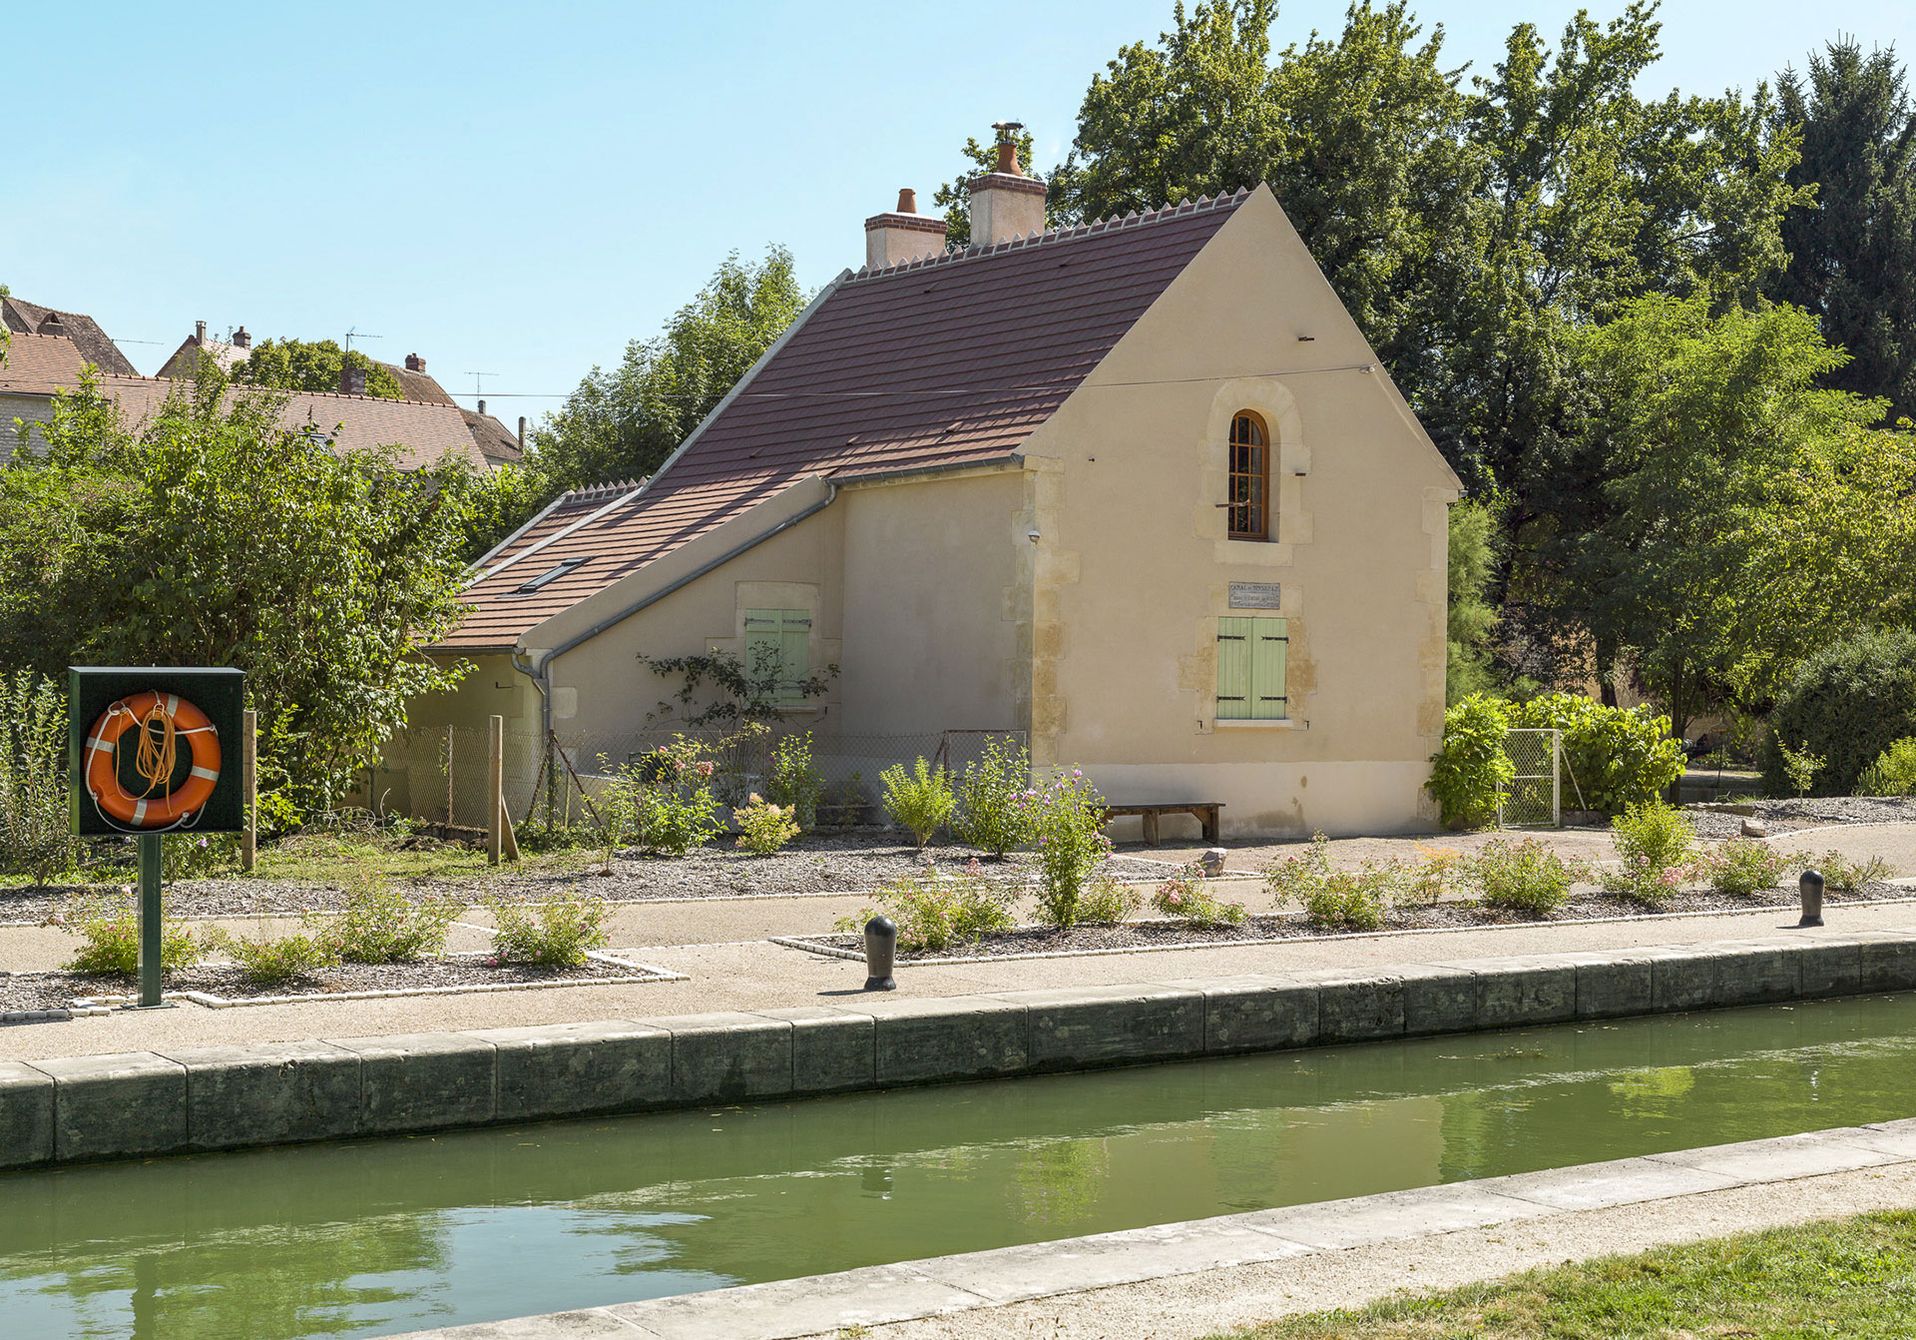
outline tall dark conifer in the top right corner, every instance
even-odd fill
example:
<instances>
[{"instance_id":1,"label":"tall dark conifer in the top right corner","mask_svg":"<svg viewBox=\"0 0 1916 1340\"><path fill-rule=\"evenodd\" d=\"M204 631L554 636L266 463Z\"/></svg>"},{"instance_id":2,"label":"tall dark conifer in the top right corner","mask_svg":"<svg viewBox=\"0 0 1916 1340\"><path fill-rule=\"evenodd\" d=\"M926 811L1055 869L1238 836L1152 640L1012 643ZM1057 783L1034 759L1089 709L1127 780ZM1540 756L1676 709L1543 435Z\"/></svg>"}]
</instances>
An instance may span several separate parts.
<instances>
[{"instance_id":1,"label":"tall dark conifer in the top right corner","mask_svg":"<svg viewBox=\"0 0 1916 1340\"><path fill-rule=\"evenodd\" d=\"M1801 136L1790 180L1816 205L1784 222L1790 266L1770 286L1849 351L1828 383L1916 416L1916 109L1891 50L1855 38L1784 71L1776 119Z\"/></svg>"}]
</instances>

